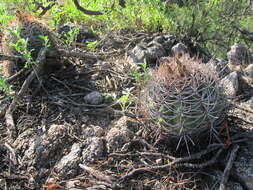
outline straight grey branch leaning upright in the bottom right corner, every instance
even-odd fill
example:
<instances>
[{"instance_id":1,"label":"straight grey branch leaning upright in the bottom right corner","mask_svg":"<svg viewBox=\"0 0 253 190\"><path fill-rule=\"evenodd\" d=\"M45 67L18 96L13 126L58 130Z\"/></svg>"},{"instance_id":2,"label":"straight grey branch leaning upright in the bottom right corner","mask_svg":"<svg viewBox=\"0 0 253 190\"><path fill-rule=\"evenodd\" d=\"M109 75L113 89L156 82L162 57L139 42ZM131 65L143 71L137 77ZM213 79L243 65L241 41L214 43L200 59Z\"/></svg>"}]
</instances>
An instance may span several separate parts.
<instances>
[{"instance_id":1,"label":"straight grey branch leaning upright in the bottom right corner","mask_svg":"<svg viewBox=\"0 0 253 190\"><path fill-rule=\"evenodd\" d=\"M235 145L233 147L232 151L231 151L228 163L226 165L226 168L225 168L224 173L223 173L222 178L221 178L221 183L220 183L220 189L219 190L226 190L226 183L228 181L228 177L229 177L230 171L232 169L233 162L235 160L236 153L237 153L238 149L239 149L239 146Z\"/></svg>"}]
</instances>

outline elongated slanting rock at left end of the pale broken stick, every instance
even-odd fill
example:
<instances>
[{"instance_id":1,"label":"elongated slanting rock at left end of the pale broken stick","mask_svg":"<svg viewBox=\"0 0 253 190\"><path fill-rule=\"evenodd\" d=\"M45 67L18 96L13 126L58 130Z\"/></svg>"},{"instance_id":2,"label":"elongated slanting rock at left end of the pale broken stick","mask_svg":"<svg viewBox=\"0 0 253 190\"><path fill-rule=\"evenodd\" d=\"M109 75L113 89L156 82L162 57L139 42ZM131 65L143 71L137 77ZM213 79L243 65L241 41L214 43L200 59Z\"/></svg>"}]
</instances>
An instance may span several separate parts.
<instances>
[{"instance_id":1,"label":"elongated slanting rock at left end of the pale broken stick","mask_svg":"<svg viewBox=\"0 0 253 190\"><path fill-rule=\"evenodd\" d=\"M58 174L58 177L63 179L73 178L78 174L81 153L82 145L80 143L73 144L70 153L63 156L54 167L54 171Z\"/></svg>"}]
</instances>

